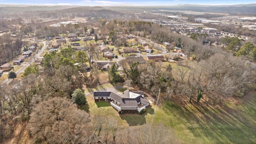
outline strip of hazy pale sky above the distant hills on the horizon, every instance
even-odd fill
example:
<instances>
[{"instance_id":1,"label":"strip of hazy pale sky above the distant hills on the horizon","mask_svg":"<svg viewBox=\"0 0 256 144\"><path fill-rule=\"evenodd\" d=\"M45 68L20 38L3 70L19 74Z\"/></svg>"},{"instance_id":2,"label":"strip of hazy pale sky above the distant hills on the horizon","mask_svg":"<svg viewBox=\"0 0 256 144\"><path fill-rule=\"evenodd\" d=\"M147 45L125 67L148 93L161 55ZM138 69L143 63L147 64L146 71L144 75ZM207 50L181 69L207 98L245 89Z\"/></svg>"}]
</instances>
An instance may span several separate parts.
<instances>
[{"instance_id":1,"label":"strip of hazy pale sky above the distant hills on the horizon","mask_svg":"<svg viewBox=\"0 0 256 144\"><path fill-rule=\"evenodd\" d=\"M80 6L107 6L107 5L136 5L159 6L176 4L200 5L233 5L253 4L256 0L0 0L0 4L30 4L30 5L80 5Z\"/></svg>"}]
</instances>

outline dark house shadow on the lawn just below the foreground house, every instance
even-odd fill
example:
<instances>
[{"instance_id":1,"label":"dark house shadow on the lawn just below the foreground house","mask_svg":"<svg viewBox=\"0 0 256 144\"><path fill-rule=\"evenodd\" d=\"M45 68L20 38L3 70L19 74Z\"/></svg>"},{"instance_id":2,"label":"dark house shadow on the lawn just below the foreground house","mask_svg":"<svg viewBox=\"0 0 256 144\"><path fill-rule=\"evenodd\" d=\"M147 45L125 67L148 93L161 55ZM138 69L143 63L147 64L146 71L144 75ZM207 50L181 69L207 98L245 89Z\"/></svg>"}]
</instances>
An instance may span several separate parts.
<instances>
[{"instance_id":1,"label":"dark house shadow on the lawn just below the foreground house","mask_svg":"<svg viewBox=\"0 0 256 144\"><path fill-rule=\"evenodd\" d=\"M148 114L153 114L154 109L152 106L149 106L146 108L146 112L144 114L138 114L137 112L135 114L119 114L120 118L122 120L126 120L126 122L129 124L129 126L138 126L138 125L143 125L146 124L146 117Z\"/></svg>"}]
</instances>

